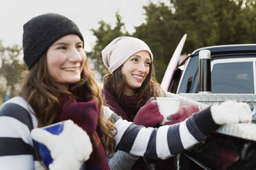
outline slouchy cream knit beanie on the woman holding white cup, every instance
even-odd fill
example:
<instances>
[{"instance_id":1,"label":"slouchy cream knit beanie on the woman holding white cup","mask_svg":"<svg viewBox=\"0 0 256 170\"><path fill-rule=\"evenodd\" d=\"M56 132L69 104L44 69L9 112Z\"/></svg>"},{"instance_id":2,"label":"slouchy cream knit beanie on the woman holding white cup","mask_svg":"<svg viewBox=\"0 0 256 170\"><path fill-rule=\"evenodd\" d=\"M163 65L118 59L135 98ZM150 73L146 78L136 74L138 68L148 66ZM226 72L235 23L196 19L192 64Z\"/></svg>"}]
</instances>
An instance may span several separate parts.
<instances>
[{"instance_id":1,"label":"slouchy cream knit beanie on the woman holding white cup","mask_svg":"<svg viewBox=\"0 0 256 170\"><path fill-rule=\"evenodd\" d=\"M153 54L149 46L142 40L129 36L120 36L112 40L103 51L103 63L110 73L113 73L129 57L138 51L148 51L153 61Z\"/></svg>"}]
</instances>

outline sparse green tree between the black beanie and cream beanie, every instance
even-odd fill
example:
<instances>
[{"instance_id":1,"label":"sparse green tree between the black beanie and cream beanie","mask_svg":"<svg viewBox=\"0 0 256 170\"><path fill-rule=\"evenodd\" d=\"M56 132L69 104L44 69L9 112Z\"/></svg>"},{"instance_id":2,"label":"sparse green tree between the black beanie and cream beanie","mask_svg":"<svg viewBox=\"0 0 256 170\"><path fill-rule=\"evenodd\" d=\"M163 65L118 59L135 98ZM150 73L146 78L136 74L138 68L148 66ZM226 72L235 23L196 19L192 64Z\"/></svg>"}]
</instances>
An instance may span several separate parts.
<instances>
[{"instance_id":1,"label":"sparse green tree between the black beanie and cream beanie","mask_svg":"<svg viewBox=\"0 0 256 170\"><path fill-rule=\"evenodd\" d=\"M125 36L129 35L125 30L125 24L121 21L121 16L116 13L116 25L114 28L111 27L108 23L104 21L100 21L98 29L92 29L94 36L96 36L96 45L91 52L87 53L89 58L95 59L95 69L100 71L102 75L108 73L108 70L105 68L103 64L101 51L113 40L118 36Z\"/></svg>"}]
</instances>

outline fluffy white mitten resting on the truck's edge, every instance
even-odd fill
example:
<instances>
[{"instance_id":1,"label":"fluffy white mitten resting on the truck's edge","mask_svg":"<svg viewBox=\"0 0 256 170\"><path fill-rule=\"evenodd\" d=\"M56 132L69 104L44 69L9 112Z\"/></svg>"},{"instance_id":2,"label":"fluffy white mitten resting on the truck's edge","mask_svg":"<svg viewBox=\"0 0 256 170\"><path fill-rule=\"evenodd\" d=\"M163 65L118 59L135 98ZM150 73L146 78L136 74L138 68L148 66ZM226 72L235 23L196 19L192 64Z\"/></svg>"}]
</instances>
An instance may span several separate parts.
<instances>
[{"instance_id":1,"label":"fluffy white mitten resting on the truck's edge","mask_svg":"<svg viewBox=\"0 0 256 170\"><path fill-rule=\"evenodd\" d=\"M213 121L219 125L252 120L248 104L236 101L225 101L222 104L211 106L211 114Z\"/></svg>"}]
</instances>

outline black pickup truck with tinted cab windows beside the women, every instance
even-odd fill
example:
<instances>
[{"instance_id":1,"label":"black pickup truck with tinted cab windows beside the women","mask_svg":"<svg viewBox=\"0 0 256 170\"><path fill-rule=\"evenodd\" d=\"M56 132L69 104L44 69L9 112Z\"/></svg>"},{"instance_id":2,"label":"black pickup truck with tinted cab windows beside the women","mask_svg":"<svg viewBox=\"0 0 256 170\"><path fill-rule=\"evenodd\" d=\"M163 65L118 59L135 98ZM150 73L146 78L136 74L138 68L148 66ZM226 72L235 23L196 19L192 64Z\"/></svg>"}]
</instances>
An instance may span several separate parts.
<instances>
[{"instance_id":1,"label":"black pickup truck with tinted cab windows beside the women","mask_svg":"<svg viewBox=\"0 0 256 170\"><path fill-rule=\"evenodd\" d=\"M208 94L198 93L199 52L203 49L211 51ZM228 99L242 101L255 112L256 44L204 47L180 63L169 82L164 82L168 84L165 90L207 105ZM175 169L256 169L256 124L239 126L220 127L206 141L179 154Z\"/></svg>"}]
</instances>

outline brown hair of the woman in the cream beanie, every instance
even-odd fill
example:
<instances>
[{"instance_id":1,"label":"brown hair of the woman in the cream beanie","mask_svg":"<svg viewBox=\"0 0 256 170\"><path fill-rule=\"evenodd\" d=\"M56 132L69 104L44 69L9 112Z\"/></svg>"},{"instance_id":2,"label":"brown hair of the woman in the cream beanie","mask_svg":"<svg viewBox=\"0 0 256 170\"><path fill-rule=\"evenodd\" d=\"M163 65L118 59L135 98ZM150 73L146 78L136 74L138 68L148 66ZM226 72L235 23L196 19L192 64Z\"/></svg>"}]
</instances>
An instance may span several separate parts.
<instances>
[{"instance_id":1,"label":"brown hair of the woman in the cream beanie","mask_svg":"<svg viewBox=\"0 0 256 170\"><path fill-rule=\"evenodd\" d=\"M121 69L122 66L118 67L113 73L105 75L103 84L104 88L107 88L120 106L123 106L125 104L123 99L125 95L125 75L122 74ZM160 90L162 89L160 88L160 84L156 82L153 63L151 62L149 74L142 83L142 86L135 90L135 95L140 101L147 101L150 97L160 97Z\"/></svg>"}]
</instances>

